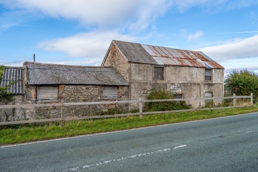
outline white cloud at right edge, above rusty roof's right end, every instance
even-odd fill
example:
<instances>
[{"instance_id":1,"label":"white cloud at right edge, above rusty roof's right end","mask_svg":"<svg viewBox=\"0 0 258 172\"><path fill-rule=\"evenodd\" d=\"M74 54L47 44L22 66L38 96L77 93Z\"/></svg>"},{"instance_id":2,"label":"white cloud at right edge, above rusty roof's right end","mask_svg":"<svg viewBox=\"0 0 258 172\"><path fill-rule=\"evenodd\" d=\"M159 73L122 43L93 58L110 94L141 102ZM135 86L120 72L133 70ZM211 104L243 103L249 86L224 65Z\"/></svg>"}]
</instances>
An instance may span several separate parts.
<instances>
[{"instance_id":1,"label":"white cloud at right edge, above rusty roof's right end","mask_svg":"<svg viewBox=\"0 0 258 172\"><path fill-rule=\"evenodd\" d=\"M197 49L211 58L220 61L233 60L237 58L258 57L258 35L244 38L233 39L226 43ZM254 61L258 65L257 61Z\"/></svg>"}]
</instances>

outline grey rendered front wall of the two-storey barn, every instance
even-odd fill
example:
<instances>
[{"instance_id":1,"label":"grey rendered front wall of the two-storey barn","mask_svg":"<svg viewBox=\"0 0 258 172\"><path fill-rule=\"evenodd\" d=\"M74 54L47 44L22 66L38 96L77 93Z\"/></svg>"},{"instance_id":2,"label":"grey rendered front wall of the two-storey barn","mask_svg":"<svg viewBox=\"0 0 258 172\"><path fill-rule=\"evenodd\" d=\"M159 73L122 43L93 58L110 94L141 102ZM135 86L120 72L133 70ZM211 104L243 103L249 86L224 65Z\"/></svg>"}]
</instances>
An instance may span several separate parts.
<instances>
[{"instance_id":1,"label":"grey rendered front wall of the two-storey barn","mask_svg":"<svg viewBox=\"0 0 258 172\"><path fill-rule=\"evenodd\" d=\"M154 65L130 63L131 78L130 91L131 99L137 100L139 97L146 98L147 90L152 88L175 90L175 86L179 87L177 92L183 93L183 98L204 97L206 91L213 92L214 97L223 97L223 69L212 70L212 81L205 81L205 69L194 67L165 66L164 81L154 80ZM186 101L186 103L194 105L194 101ZM215 100L215 104L221 103ZM204 100L198 102L199 107L204 106Z\"/></svg>"}]
</instances>

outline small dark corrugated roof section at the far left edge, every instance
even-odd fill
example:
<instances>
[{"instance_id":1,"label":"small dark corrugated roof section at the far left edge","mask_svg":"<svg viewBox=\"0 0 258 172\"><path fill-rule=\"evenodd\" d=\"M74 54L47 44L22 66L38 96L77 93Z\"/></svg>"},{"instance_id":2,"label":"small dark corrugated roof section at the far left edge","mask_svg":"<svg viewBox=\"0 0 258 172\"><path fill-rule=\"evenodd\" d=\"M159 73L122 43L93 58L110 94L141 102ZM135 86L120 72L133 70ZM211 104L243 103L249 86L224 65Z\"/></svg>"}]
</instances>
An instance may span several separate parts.
<instances>
[{"instance_id":1,"label":"small dark corrugated roof section at the far left edge","mask_svg":"<svg viewBox=\"0 0 258 172\"><path fill-rule=\"evenodd\" d=\"M0 86L7 86L14 81L15 83L8 87L7 91L12 94L24 94L23 71L23 67L6 67L0 80Z\"/></svg>"}]
</instances>

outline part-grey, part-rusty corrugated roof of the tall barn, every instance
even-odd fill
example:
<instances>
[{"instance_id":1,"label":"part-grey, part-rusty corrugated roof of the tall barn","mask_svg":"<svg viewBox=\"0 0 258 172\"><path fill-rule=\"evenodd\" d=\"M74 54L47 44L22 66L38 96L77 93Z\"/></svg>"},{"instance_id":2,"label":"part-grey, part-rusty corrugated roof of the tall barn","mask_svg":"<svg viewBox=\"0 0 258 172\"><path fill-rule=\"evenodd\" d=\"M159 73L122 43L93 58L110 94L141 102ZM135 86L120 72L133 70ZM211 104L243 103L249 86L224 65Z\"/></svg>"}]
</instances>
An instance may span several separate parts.
<instances>
[{"instance_id":1,"label":"part-grey, part-rusty corrugated roof of the tall barn","mask_svg":"<svg viewBox=\"0 0 258 172\"><path fill-rule=\"evenodd\" d=\"M113 40L129 62L224 69L203 52Z\"/></svg>"}]
</instances>

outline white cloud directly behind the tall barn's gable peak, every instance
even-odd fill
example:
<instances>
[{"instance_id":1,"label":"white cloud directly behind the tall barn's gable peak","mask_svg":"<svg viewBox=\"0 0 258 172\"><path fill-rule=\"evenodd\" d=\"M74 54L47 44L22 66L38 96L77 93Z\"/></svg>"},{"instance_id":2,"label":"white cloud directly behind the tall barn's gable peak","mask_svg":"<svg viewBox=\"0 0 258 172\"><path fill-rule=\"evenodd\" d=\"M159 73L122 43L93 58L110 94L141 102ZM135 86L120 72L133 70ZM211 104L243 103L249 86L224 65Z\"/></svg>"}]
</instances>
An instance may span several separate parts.
<instances>
[{"instance_id":1,"label":"white cloud directly behind the tall barn's gable peak","mask_svg":"<svg viewBox=\"0 0 258 172\"><path fill-rule=\"evenodd\" d=\"M86 63L99 63L113 39L135 41L136 37L118 31L93 31L78 33L65 38L40 42L38 47L46 51L64 52L70 57L84 57Z\"/></svg>"}]
</instances>

